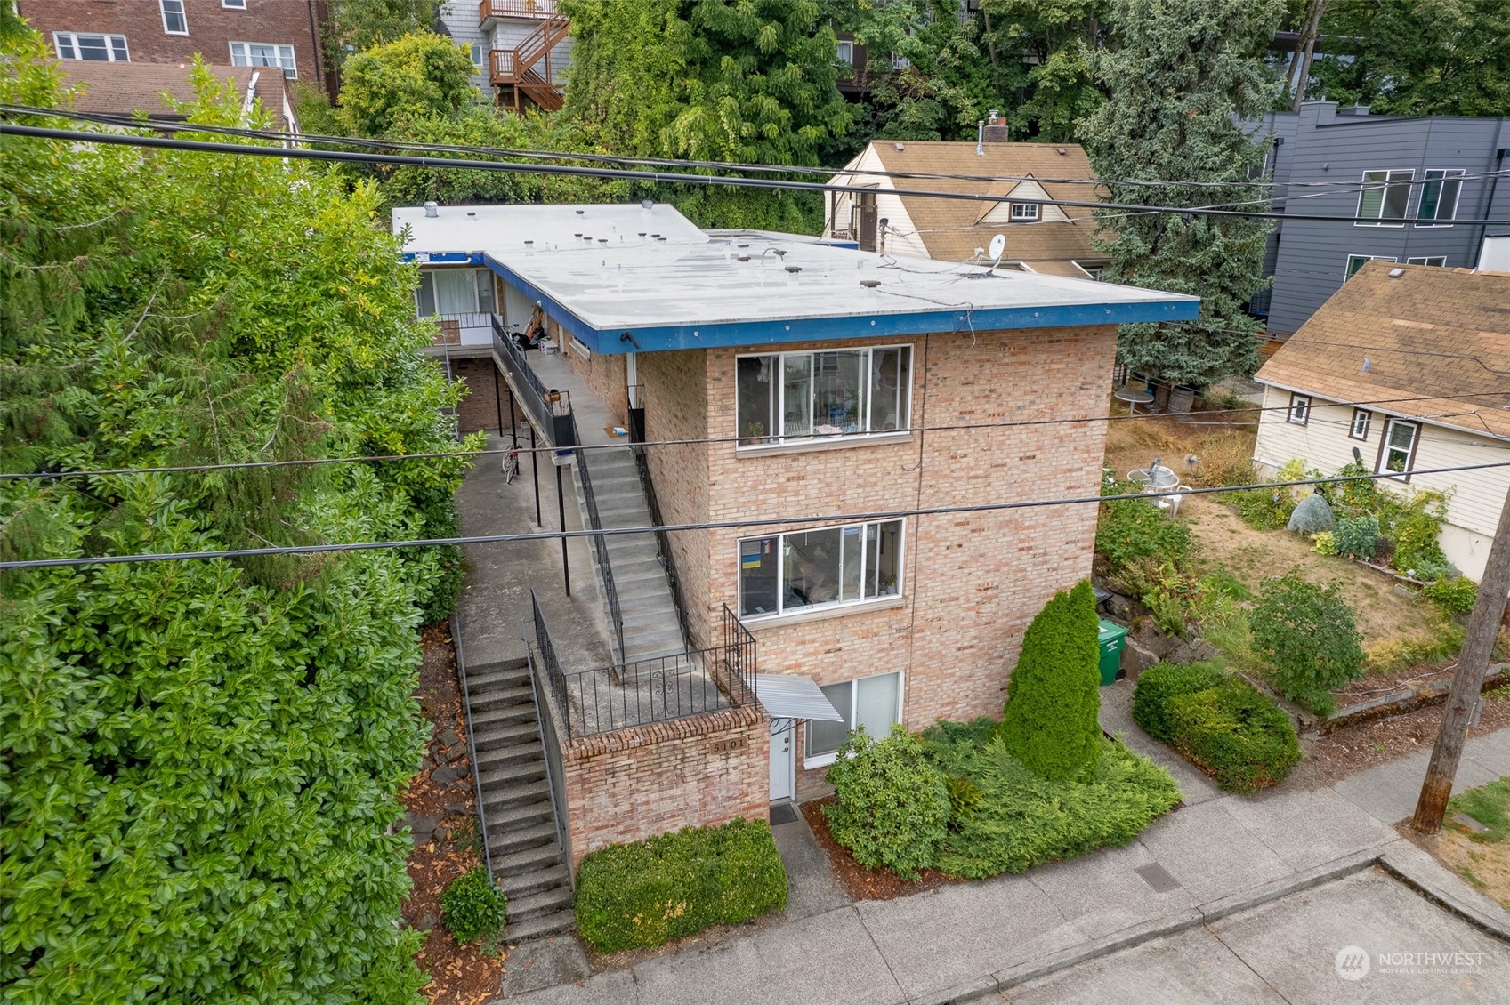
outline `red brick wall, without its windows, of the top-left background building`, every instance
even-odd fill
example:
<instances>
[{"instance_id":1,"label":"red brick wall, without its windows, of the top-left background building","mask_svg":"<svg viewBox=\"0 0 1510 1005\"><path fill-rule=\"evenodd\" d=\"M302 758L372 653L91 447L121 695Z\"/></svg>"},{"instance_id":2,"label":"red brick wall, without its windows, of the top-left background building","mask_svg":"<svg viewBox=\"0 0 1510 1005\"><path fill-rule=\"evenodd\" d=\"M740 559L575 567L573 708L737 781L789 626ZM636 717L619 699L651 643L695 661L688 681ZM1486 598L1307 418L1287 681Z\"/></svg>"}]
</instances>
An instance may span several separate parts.
<instances>
[{"instance_id":1,"label":"red brick wall, without its windows, of the top-left background building","mask_svg":"<svg viewBox=\"0 0 1510 1005\"><path fill-rule=\"evenodd\" d=\"M196 53L214 66L231 65L231 42L293 45L299 80L322 88L325 54L317 30L325 24L323 3L305 0L248 0L245 11L220 0L184 0L187 35L168 35L159 0L20 0L21 17L53 44L53 32L124 35L136 63L187 62Z\"/></svg>"}]
</instances>

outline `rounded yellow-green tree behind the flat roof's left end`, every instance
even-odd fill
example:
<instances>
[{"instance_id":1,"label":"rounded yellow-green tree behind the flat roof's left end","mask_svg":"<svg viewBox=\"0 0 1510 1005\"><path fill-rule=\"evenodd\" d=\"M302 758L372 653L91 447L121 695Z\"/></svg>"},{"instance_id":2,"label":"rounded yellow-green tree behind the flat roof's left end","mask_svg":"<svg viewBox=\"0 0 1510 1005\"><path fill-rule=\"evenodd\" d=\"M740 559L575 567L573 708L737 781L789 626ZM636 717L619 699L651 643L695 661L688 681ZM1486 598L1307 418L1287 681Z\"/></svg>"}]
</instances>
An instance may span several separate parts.
<instances>
[{"instance_id":1,"label":"rounded yellow-green tree behind the flat roof's left end","mask_svg":"<svg viewBox=\"0 0 1510 1005\"><path fill-rule=\"evenodd\" d=\"M429 32L373 45L341 66L340 118L353 136L384 136L397 122L455 115L477 98L471 56Z\"/></svg>"}]
</instances>

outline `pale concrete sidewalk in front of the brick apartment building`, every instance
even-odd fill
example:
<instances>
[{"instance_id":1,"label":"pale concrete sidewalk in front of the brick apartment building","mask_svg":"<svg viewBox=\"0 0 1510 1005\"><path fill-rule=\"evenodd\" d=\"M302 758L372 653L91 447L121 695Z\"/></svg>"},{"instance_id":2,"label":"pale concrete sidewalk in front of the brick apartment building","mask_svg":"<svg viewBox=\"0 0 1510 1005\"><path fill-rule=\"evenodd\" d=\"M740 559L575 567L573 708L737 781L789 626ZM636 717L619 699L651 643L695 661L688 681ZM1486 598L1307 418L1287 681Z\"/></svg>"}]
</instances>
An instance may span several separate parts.
<instances>
[{"instance_id":1,"label":"pale concrete sidewalk in front of the brick apartment building","mask_svg":"<svg viewBox=\"0 0 1510 1005\"><path fill-rule=\"evenodd\" d=\"M959 883L895 901L861 901L773 925L749 937L692 945L581 985L545 988L512 1000L676 1002L942 1002L989 994L997 975L1043 961L1089 958L1132 945L1146 933L1188 930L1297 889L1385 868L1510 924L1483 898L1389 824L1410 815L1425 753L1371 768L1332 788L1228 795L1169 748L1131 726L1131 685L1102 690L1102 724L1167 767L1185 794L1123 848L1107 848L1022 875ZM1510 729L1474 738L1459 788L1510 774ZM1158 865L1178 884L1167 892L1137 872ZM1510 963L1510 946L1505 948Z\"/></svg>"}]
</instances>

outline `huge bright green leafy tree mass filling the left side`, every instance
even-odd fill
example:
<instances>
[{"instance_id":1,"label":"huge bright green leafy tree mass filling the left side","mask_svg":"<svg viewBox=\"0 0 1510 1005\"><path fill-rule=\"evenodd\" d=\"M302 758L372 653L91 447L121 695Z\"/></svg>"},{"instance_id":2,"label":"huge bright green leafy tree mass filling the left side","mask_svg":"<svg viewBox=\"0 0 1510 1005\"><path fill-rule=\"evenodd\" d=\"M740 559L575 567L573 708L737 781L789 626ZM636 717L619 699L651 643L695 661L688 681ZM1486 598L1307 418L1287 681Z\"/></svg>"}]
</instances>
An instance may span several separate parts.
<instances>
[{"instance_id":1,"label":"huge bright green leafy tree mass filling the left side","mask_svg":"<svg viewBox=\"0 0 1510 1005\"><path fill-rule=\"evenodd\" d=\"M3 48L0 101L59 81L39 36ZM195 85L193 122L243 121ZM453 448L374 208L276 158L0 143L0 466ZM6 481L0 555L424 536L464 466ZM445 579L393 551L3 573L0 997L414 1002L397 795Z\"/></svg>"}]
</instances>

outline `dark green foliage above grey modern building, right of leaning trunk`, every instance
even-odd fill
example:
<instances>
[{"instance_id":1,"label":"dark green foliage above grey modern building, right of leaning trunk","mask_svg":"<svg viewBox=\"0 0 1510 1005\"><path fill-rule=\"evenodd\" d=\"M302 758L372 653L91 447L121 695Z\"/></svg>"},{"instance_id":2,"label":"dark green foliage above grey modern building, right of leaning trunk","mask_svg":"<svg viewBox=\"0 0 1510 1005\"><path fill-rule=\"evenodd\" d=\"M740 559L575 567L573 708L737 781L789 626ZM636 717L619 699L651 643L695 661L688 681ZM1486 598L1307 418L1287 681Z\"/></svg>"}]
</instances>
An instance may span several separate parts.
<instances>
[{"instance_id":1,"label":"dark green foliage above grey modern building, right of leaning trunk","mask_svg":"<svg viewBox=\"0 0 1510 1005\"><path fill-rule=\"evenodd\" d=\"M1306 97L1382 115L1510 113L1504 0L1330 0Z\"/></svg>"}]
</instances>

